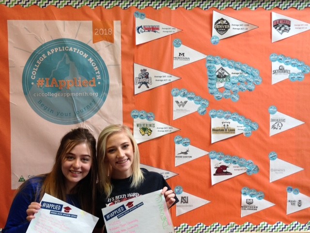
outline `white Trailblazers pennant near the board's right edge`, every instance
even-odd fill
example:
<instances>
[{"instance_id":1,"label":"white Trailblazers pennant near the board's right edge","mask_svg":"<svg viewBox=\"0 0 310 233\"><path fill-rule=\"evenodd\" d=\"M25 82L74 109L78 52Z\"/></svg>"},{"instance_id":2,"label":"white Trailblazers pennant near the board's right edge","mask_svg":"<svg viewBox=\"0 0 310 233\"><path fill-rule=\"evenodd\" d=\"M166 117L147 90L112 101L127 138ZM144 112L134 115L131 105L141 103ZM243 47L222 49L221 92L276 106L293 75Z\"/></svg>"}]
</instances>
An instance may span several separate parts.
<instances>
[{"instance_id":1,"label":"white Trailblazers pennant near the board's right edge","mask_svg":"<svg viewBox=\"0 0 310 233\"><path fill-rule=\"evenodd\" d=\"M286 130L290 130L296 126L305 123L303 121L297 120L291 116L287 116L278 111L275 114L270 114L269 122L270 122L270 130L269 130L270 136L282 133Z\"/></svg>"}]
</instances>

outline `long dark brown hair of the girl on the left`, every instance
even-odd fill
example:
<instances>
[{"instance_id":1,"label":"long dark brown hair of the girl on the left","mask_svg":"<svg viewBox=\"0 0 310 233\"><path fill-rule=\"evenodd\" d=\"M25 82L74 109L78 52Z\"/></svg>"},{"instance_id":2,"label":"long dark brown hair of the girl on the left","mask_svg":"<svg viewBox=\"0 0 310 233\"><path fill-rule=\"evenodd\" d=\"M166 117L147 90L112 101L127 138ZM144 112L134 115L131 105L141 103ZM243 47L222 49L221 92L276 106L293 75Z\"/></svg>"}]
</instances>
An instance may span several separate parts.
<instances>
[{"instance_id":1,"label":"long dark brown hair of the girl on the left","mask_svg":"<svg viewBox=\"0 0 310 233\"><path fill-rule=\"evenodd\" d=\"M45 176L46 179L42 184L41 191L37 190L36 200L37 197L41 200L43 195L47 193L55 198L66 201L66 178L62 173L62 162L65 154L81 143L87 143L89 146L89 149L91 150L92 165L87 176L78 182L78 184L71 190L71 194L78 194L78 201L81 209L94 215L98 172L96 139L89 130L84 128L73 129L62 137L51 172L44 175L39 175L41 177ZM24 186L25 185L21 185L19 191L23 189Z\"/></svg>"}]
</instances>

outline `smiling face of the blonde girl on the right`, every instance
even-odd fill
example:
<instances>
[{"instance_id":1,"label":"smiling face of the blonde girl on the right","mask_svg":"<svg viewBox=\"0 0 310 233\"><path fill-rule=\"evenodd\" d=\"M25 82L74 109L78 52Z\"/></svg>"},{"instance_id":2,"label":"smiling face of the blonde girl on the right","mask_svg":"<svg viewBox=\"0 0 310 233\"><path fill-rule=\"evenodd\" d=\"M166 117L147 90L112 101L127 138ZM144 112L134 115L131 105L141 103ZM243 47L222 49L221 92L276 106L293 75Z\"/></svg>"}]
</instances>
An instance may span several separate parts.
<instances>
[{"instance_id":1,"label":"smiling face of the blonde girl on the right","mask_svg":"<svg viewBox=\"0 0 310 233\"><path fill-rule=\"evenodd\" d=\"M113 179L124 179L132 175L134 150L126 133L114 133L108 137L105 160L112 167Z\"/></svg>"}]
</instances>

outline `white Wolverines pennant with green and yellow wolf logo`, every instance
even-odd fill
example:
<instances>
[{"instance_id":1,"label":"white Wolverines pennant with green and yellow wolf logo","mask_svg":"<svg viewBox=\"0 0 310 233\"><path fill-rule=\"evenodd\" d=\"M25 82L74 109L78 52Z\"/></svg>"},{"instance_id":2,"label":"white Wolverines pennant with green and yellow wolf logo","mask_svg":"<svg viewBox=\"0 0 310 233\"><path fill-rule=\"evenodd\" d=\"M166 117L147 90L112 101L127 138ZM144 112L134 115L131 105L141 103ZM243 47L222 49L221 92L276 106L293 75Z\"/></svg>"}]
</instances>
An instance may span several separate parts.
<instances>
[{"instance_id":1,"label":"white Wolverines pennant with green and yellow wolf logo","mask_svg":"<svg viewBox=\"0 0 310 233\"><path fill-rule=\"evenodd\" d=\"M134 138L138 144L180 130L155 120L148 121L140 118L134 119L133 128Z\"/></svg>"}]
</instances>

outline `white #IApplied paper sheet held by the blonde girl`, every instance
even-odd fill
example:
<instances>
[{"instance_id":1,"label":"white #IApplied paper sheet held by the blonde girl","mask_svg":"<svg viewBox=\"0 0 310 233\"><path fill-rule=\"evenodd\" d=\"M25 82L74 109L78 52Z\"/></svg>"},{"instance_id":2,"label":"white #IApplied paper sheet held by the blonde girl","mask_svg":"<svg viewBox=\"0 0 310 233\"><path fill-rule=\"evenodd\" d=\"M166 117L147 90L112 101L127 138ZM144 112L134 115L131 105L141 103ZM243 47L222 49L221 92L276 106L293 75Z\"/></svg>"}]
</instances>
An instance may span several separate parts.
<instances>
[{"instance_id":1,"label":"white #IApplied paper sheet held by the blonde girl","mask_svg":"<svg viewBox=\"0 0 310 233\"><path fill-rule=\"evenodd\" d=\"M171 216L161 190L102 209L108 233L173 233Z\"/></svg>"}]
</instances>

